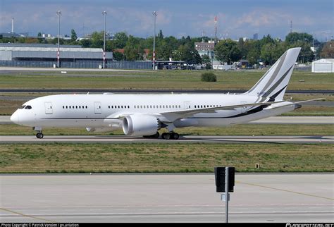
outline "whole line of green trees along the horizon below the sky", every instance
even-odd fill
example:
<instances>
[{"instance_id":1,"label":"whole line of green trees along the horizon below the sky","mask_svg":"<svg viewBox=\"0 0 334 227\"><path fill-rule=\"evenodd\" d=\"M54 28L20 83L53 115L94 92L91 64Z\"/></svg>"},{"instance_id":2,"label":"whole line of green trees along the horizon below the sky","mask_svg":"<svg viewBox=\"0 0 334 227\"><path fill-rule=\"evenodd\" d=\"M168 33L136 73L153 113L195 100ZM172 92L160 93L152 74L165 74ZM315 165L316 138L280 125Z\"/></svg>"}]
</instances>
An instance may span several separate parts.
<instances>
[{"instance_id":1,"label":"whole line of green trees along the horizon below the sky","mask_svg":"<svg viewBox=\"0 0 334 227\"><path fill-rule=\"evenodd\" d=\"M66 36L69 37L69 36ZM164 37L162 30L156 36L156 59L168 61L185 61L188 64L204 63L210 66L209 56L199 56L194 48L194 42L208 42L209 37L181 37L176 39L173 36ZM18 42L18 43L48 43L57 44L58 39L42 38L41 33L37 37L1 37L0 42ZM93 32L90 39L80 39L75 30L71 30L70 39L60 39L60 44L81 45L82 47L103 48L104 32ZM311 47L318 47L316 54ZM215 57L218 61L228 64L240 59L247 59L249 64L264 62L266 65L273 64L287 49L292 47L302 47L298 61L306 63L313 61L315 56L318 58L334 58L334 42L318 42L311 35L304 32L291 32L281 39L273 39L271 35L266 35L262 39L244 39L240 38L237 42L232 39L220 40L215 48ZM117 51L123 49L123 51ZM113 58L117 61L141 61L144 60L145 49L149 50L147 59L153 57L153 37L135 37L126 32L118 32L113 39L106 39L106 51L113 51Z\"/></svg>"}]
</instances>

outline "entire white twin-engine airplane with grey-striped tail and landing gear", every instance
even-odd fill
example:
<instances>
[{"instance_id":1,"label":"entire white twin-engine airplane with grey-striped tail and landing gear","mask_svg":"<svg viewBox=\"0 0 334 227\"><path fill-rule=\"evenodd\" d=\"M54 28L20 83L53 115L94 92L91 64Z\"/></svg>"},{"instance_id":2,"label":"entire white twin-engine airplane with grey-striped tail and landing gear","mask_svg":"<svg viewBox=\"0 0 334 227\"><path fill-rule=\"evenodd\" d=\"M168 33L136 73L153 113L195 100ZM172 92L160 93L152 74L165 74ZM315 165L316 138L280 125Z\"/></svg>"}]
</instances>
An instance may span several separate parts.
<instances>
[{"instance_id":1,"label":"entire white twin-engine airplane with grey-striped tail and landing gear","mask_svg":"<svg viewBox=\"0 0 334 227\"><path fill-rule=\"evenodd\" d=\"M243 94L57 94L25 102L11 116L19 125L77 127L89 132L123 128L125 135L178 140L175 128L224 126L276 116L301 107L283 100L301 48L285 51L259 82ZM316 100L316 99L312 99ZM308 102L302 101L302 102Z\"/></svg>"}]
</instances>

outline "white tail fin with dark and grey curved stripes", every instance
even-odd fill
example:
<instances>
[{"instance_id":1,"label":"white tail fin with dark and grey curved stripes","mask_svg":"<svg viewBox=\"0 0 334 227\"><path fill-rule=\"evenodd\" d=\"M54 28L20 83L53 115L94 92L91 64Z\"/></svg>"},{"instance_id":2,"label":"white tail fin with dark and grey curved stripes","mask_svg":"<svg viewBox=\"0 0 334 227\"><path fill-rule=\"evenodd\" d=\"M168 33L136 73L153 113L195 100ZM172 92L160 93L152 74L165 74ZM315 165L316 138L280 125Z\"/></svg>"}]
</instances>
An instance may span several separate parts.
<instances>
[{"instance_id":1,"label":"white tail fin with dark and grey curved stripes","mask_svg":"<svg viewBox=\"0 0 334 227\"><path fill-rule=\"evenodd\" d=\"M256 82L256 85L245 94L261 97L259 102L263 102L267 98L270 102L283 100L300 49L300 47L296 47L285 51L266 74Z\"/></svg>"}]
</instances>

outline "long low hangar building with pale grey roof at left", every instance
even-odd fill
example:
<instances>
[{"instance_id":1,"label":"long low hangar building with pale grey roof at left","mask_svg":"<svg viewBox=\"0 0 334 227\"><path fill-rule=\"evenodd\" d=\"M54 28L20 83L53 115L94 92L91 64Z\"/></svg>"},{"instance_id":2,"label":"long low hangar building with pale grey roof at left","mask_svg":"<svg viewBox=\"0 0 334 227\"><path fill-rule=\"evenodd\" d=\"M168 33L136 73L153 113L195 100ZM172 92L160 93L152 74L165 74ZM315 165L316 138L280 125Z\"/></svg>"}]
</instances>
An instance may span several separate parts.
<instances>
[{"instance_id":1,"label":"long low hangar building with pale grey roof at left","mask_svg":"<svg viewBox=\"0 0 334 227\"><path fill-rule=\"evenodd\" d=\"M56 67L56 44L0 44L0 66ZM103 49L83 48L80 45L59 46L60 67L99 68L103 64ZM113 60L113 53L106 52L106 62Z\"/></svg>"}]
</instances>

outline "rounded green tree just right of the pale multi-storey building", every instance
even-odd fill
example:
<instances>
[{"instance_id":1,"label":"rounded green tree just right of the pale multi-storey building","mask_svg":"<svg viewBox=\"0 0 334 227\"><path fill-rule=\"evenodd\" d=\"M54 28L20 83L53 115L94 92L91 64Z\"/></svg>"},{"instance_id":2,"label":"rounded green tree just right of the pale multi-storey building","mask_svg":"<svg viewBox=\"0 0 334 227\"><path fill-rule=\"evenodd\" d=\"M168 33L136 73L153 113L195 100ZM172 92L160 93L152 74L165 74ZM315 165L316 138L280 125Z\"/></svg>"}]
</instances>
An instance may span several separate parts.
<instances>
[{"instance_id":1,"label":"rounded green tree just right of the pale multi-storey building","mask_svg":"<svg viewBox=\"0 0 334 227\"><path fill-rule=\"evenodd\" d=\"M221 42L216 44L214 51L218 61L227 62L228 64L241 58L241 51L237 47L237 42L232 39L221 40Z\"/></svg>"}]
</instances>

